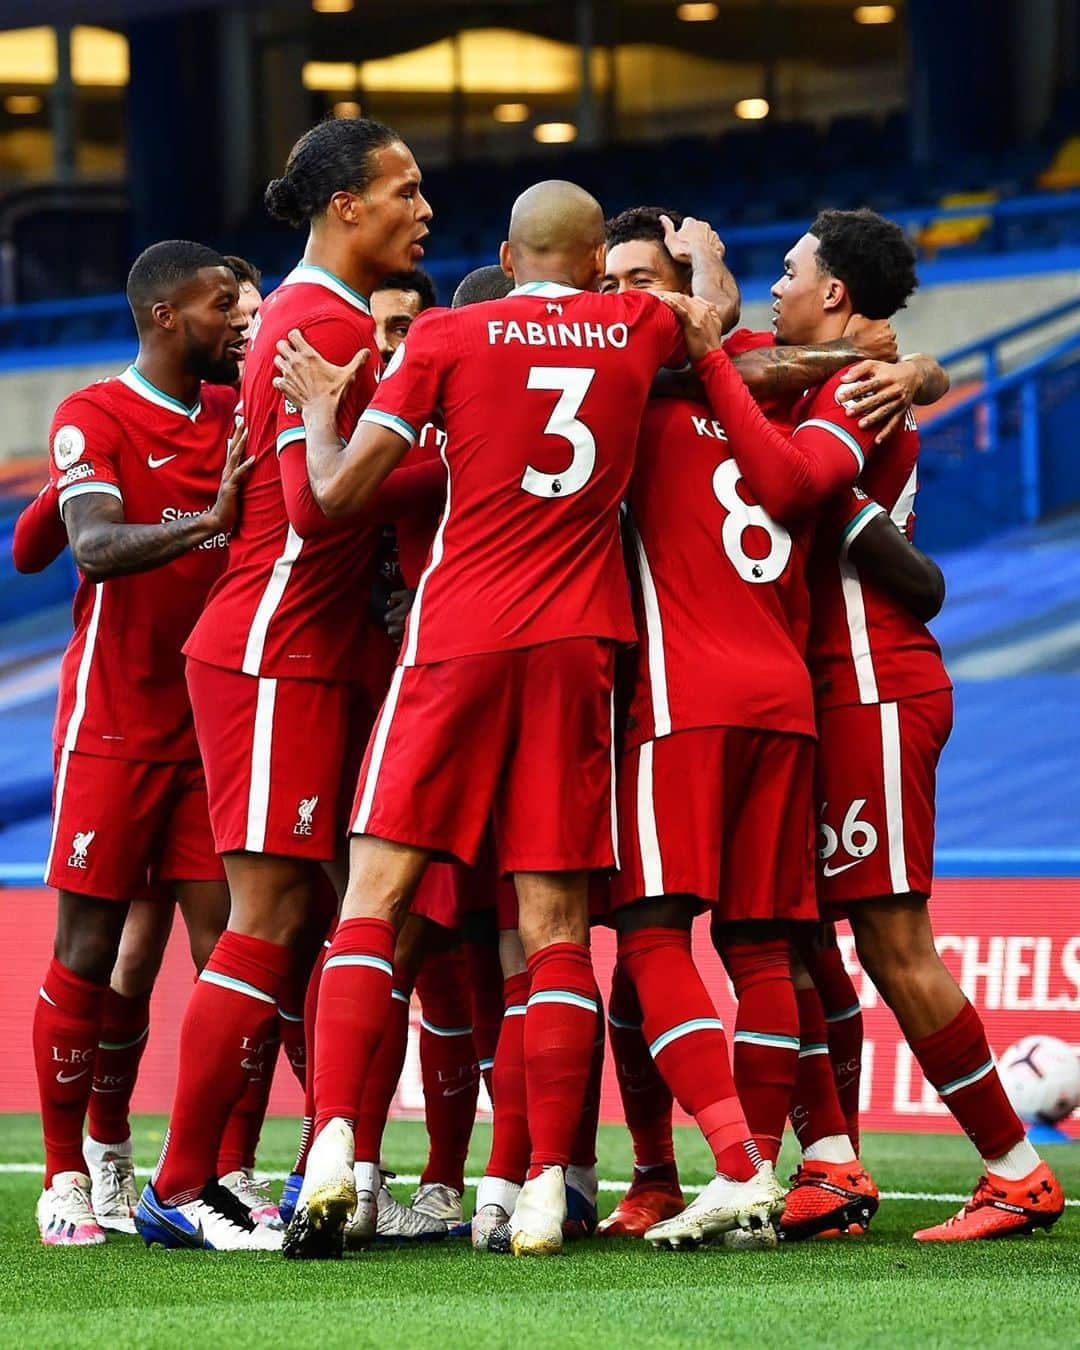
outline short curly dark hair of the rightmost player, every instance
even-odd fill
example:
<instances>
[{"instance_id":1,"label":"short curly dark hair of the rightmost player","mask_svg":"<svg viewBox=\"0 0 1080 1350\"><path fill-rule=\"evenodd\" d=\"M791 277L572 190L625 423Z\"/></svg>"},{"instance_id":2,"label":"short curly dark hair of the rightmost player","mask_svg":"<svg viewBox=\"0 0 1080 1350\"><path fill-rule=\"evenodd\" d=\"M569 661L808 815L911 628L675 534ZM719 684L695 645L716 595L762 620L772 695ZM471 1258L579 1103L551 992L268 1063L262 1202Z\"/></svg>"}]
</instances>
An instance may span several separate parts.
<instances>
[{"instance_id":1,"label":"short curly dark hair of the rightmost player","mask_svg":"<svg viewBox=\"0 0 1080 1350\"><path fill-rule=\"evenodd\" d=\"M842 281L856 313L867 319L891 319L919 284L911 240L876 211L822 211L810 234L819 271Z\"/></svg>"}]
</instances>

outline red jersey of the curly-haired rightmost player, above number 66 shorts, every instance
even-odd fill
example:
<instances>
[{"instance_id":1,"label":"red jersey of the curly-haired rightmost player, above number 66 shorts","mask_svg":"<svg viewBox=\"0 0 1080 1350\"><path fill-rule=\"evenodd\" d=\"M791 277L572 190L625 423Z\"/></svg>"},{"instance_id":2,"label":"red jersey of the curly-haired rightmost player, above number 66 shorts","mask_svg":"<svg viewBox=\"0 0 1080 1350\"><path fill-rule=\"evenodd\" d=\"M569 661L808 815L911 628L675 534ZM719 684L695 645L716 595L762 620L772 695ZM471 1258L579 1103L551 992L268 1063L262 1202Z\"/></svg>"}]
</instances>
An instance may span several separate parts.
<instances>
[{"instance_id":1,"label":"red jersey of the curly-haired rightmost player, above number 66 shorts","mask_svg":"<svg viewBox=\"0 0 1080 1350\"><path fill-rule=\"evenodd\" d=\"M861 493L845 493L818 528L810 566L809 651L818 707L891 703L952 688L941 648L926 625L860 576L846 558L848 545L876 514L873 502L911 539L918 454L918 425L909 410L903 427L867 463Z\"/></svg>"}]
</instances>

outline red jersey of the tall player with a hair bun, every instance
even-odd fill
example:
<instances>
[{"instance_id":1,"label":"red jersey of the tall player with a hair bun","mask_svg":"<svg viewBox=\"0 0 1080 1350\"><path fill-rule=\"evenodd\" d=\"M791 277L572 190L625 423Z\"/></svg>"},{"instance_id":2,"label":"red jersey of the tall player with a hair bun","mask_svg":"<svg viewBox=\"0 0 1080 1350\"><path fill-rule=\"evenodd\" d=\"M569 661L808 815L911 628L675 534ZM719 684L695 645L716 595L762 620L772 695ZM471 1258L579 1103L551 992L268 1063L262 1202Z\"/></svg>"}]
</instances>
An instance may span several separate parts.
<instances>
[{"instance_id":1,"label":"red jersey of the tall player with a hair bun","mask_svg":"<svg viewBox=\"0 0 1080 1350\"><path fill-rule=\"evenodd\" d=\"M355 680L378 528L329 521L315 502L304 418L271 383L277 343L290 328L339 366L360 347L377 352L367 301L321 267L300 263L263 302L248 331L242 387L255 464L228 568L185 652L247 675ZM378 364L373 355L342 398L344 439L371 397Z\"/></svg>"}]
</instances>

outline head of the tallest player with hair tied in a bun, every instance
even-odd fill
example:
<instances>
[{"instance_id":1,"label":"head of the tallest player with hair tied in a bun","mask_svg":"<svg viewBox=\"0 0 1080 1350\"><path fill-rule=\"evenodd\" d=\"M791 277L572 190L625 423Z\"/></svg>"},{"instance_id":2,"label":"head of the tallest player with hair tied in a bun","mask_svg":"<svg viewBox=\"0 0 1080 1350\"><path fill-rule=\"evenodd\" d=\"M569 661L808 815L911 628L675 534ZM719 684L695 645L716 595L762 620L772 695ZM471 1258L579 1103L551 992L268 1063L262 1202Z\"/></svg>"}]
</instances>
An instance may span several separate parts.
<instances>
[{"instance_id":1,"label":"head of the tallest player with hair tied in a bun","mask_svg":"<svg viewBox=\"0 0 1080 1350\"><path fill-rule=\"evenodd\" d=\"M432 211L420 169L397 132L370 117L328 117L305 131L263 200L275 220L343 235L377 277L424 256Z\"/></svg>"}]
</instances>

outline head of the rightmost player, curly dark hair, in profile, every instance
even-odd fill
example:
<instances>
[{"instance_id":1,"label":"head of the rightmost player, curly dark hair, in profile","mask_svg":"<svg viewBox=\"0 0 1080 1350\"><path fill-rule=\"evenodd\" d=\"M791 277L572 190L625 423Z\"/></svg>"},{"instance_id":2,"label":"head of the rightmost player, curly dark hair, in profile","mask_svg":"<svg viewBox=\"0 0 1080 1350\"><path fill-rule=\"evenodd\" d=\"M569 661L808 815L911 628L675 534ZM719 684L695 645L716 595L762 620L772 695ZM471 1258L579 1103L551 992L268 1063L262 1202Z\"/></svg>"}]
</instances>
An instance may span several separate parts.
<instances>
[{"instance_id":1,"label":"head of the rightmost player, curly dark hair, in profile","mask_svg":"<svg viewBox=\"0 0 1080 1350\"><path fill-rule=\"evenodd\" d=\"M829 342L852 315L891 319L918 285L903 230L873 211L822 211L784 258L772 288L782 343Z\"/></svg>"}]
</instances>

